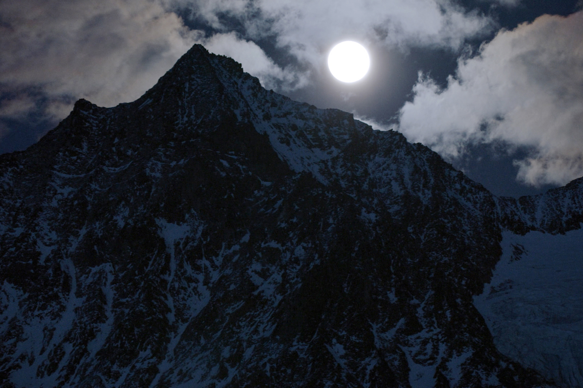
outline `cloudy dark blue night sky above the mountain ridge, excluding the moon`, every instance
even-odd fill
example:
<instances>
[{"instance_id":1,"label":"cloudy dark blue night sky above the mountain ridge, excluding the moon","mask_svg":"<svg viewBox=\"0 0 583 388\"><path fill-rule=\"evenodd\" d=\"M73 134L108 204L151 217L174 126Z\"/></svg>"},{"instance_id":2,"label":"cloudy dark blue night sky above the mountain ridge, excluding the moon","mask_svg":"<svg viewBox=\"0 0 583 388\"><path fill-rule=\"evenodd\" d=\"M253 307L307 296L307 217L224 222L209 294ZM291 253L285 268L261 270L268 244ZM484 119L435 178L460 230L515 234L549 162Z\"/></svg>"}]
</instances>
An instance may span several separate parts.
<instances>
[{"instance_id":1,"label":"cloudy dark blue night sky above the mountain ridge, excluding the moon","mask_svg":"<svg viewBox=\"0 0 583 388\"><path fill-rule=\"evenodd\" d=\"M0 0L0 153L138 98L195 43L268 89L439 152L496 195L583 176L583 1ZM326 65L367 48L360 81Z\"/></svg>"}]
</instances>

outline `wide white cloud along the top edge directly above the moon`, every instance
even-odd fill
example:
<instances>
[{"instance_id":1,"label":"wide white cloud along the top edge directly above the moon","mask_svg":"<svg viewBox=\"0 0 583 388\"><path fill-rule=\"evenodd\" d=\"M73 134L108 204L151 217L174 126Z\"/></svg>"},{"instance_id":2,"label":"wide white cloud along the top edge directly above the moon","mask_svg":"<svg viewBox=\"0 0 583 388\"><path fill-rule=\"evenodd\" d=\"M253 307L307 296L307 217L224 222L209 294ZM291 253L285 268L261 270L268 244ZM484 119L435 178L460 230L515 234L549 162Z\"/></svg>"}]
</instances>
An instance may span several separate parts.
<instances>
[{"instance_id":1,"label":"wide white cloud along the top edge directly above the moon","mask_svg":"<svg viewBox=\"0 0 583 388\"><path fill-rule=\"evenodd\" d=\"M449 0L176 0L195 9L217 29L229 30L218 15L236 17L252 38L275 35L300 62L316 68L339 40L388 45L438 45L458 49L481 34L490 20Z\"/></svg>"}]
</instances>

